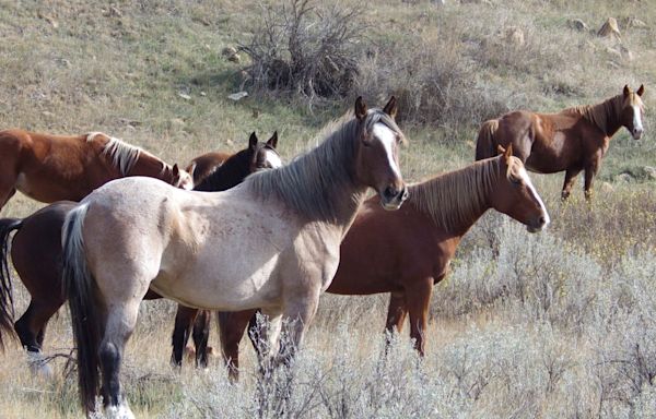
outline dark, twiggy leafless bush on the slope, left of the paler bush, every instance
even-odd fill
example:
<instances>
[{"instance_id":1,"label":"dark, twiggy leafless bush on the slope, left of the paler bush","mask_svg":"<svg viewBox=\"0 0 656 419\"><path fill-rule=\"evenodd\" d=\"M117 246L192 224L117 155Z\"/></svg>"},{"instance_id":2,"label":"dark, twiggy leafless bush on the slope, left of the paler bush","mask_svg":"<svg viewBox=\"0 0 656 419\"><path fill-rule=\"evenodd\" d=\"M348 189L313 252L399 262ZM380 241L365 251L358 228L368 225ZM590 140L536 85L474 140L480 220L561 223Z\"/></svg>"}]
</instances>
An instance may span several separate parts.
<instances>
[{"instance_id":1,"label":"dark, twiggy leafless bush on the slope, left of the paler bush","mask_svg":"<svg viewBox=\"0 0 656 419\"><path fill-rule=\"evenodd\" d=\"M361 11L314 0L286 0L263 7L261 27L242 49L256 89L315 97L341 97L358 75L359 46L364 26Z\"/></svg>"}]
</instances>

